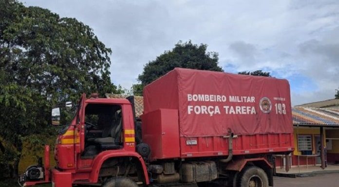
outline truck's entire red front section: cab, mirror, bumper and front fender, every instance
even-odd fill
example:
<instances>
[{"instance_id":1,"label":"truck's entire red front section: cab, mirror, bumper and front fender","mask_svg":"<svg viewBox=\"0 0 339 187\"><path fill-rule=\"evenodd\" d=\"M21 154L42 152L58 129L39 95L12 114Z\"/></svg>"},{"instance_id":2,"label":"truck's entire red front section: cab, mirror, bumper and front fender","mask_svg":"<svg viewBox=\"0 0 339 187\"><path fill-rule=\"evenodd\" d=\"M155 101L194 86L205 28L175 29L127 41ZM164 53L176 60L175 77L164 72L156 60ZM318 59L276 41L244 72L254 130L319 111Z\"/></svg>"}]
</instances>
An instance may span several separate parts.
<instances>
[{"instance_id":1,"label":"truck's entire red front section: cab, mirror, bumper and front fender","mask_svg":"<svg viewBox=\"0 0 339 187\"><path fill-rule=\"evenodd\" d=\"M118 175L129 176L138 184L148 184L144 159L135 152L134 115L129 100L93 95L87 99L82 94L74 113L73 119L61 127L57 136L56 168L49 171L45 167L41 170L45 172L44 180L37 178L26 182L26 186L49 182L50 176L54 187L100 185ZM60 114L59 107L52 110L52 124L60 124ZM48 156L45 156L45 166L49 165L47 163Z\"/></svg>"}]
</instances>

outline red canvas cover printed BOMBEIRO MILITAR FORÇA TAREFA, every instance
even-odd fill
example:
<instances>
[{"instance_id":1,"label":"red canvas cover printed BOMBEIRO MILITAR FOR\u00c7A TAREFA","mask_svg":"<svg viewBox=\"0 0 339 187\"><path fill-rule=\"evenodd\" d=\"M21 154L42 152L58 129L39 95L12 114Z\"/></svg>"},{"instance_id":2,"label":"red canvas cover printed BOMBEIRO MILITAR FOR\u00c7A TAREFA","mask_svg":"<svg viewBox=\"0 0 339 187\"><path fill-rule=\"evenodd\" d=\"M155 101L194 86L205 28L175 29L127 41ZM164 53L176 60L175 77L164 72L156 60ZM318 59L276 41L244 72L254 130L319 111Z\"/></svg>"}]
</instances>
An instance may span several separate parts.
<instances>
[{"instance_id":1,"label":"red canvas cover printed BOMBEIRO MILITAR FOR\u00c7A TAREFA","mask_svg":"<svg viewBox=\"0 0 339 187\"><path fill-rule=\"evenodd\" d=\"M179 111L180 136L293 133L287 80L175 68L144 88L144 113Z\"/></svg>"}]
</instances>

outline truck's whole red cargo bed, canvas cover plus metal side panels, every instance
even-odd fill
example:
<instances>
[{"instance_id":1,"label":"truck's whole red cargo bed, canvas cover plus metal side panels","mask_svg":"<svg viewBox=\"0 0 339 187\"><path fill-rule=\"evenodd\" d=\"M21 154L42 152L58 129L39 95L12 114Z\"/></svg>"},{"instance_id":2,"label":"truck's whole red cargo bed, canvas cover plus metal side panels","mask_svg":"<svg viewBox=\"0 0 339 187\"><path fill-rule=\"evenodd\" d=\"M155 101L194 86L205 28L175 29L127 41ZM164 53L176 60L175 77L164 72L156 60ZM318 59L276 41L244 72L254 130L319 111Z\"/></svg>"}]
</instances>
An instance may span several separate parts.
<instances>
[{"instance_id":1,"label":"truck's whole red cargo bed, canvas cover plus metal side panels","mask_svg":"<svg viewBox=\"0 0 339 187\"><path fill-rule=\"evenodd\" d=\"M143 141L152 159L293 150L287 80L175 68L144 88ZM166 149L165 149L166 148Z\"/></svg>"}]
</instances>

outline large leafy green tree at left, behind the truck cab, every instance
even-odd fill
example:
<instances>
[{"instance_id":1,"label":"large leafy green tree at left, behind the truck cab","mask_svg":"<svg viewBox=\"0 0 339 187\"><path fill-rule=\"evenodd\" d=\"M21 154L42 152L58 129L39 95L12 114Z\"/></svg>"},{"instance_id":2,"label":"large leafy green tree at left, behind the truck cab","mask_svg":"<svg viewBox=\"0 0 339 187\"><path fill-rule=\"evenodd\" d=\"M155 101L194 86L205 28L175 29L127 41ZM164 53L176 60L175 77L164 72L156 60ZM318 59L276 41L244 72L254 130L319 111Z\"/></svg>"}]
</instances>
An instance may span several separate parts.
<instances>
[{"instance_id":1,"label":"large leafy green tree at left, behind the truck cab","mask_svg":"<svg viewBox=\"0 0 339 187\"><path fill-rule=\"evenodd\" d=\"M110 54L75 18L0 0L0 164L12 168L12 176L18 174L23 141L53 134L53 105L76 102L82 92L116 92Z\"/></svg>"}]
</instances>

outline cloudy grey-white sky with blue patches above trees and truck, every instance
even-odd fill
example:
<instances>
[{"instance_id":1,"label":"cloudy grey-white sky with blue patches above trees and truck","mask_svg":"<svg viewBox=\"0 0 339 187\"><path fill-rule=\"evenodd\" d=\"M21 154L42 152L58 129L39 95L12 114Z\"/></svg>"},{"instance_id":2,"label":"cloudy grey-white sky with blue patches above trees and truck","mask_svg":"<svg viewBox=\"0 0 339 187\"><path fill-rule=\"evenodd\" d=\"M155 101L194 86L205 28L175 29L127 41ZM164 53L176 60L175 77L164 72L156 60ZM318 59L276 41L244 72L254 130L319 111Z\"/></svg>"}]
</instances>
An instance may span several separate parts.
<instances>
[{"instance_id":1,"label":"cloudy grey-white sky with blue patches above trees and truck","mask_svg":"<svg viewBox=\"0 0 339 187\"><path fill-rule=\"evenodd\" d=\"M25 0L75 17L112 49L111 79L129 88L179 40L205 43L226 72L263 69L290 81L292 104L339 87L338 0Z\"/></svg>"}]
</instances>

